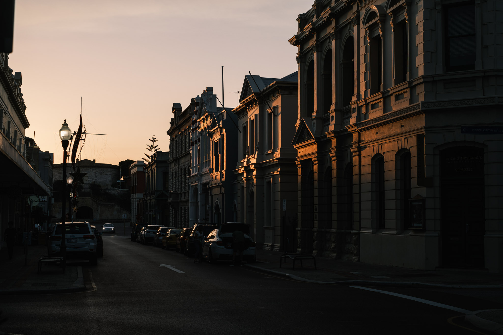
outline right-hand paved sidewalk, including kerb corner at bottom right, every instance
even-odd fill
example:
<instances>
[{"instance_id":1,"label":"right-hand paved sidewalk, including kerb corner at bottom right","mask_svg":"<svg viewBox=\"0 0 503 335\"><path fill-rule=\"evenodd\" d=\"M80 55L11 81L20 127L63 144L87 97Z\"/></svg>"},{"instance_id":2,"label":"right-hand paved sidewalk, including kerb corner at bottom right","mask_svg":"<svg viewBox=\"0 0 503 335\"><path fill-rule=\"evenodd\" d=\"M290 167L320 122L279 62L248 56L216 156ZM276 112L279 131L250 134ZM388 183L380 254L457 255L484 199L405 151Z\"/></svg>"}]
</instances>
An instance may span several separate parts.
<instances>
[{"instance_id":1,"label":"right-hand paved sidewalk, including kerb corner at bottom right","mask_svg":"<svg viewBox=\"0 0 503 335\"><path fill-rule=\"evenodd\" d=\"M257 263L244 266L257 271L284 276L293 280L334 284L416 288L503 288L503 275L484 270L436 269L416 270L393 266L356 263L316 257L316 268L312 260L283 261L283 252L257 250ZM473 325L503 334L503 310L478 310L465 316Z\"/></svg>"}]
</instances>

